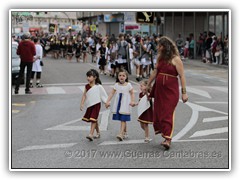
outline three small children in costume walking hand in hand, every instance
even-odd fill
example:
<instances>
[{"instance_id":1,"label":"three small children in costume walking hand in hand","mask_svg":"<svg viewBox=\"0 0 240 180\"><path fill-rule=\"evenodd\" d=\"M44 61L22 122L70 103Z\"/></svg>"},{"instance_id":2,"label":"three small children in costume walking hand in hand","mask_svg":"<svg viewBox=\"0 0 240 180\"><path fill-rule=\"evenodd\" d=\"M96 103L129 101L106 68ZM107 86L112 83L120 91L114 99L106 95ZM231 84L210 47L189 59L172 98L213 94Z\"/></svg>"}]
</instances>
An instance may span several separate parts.
<instances>
[{"instance_id":1,"label":"three small children in costume walking hand in hand","mask_svg":"<svg viewBox=\"0 0 240 180\"><path fill-rule=\"evenodd\" d=\"M94 138L100 138L98 116L101 102L105 103L106 108L108 108L113 96L116 94L111 105L112 119L121 122L120 131L116 138L119 141L127 138L127 122L131 121L131 108L138 105L138 121L145 132L144 141L150 142L148 124L152 123L153 106L147 89L147 81L140 83L141 93L139 94L139 102L135 103L134 89L131 83L128 82L128 73L125 69L119 69L116 83L109 96L101 85L97 70L90 69L86 76L88 84L85 85L80 105L81 111L84 109L84 106L87 108L82 120L91 123L90 133L86 138L89 141L93 141ZM95 130L96 135L94 135Z\"/></svg>"}]
</instances>

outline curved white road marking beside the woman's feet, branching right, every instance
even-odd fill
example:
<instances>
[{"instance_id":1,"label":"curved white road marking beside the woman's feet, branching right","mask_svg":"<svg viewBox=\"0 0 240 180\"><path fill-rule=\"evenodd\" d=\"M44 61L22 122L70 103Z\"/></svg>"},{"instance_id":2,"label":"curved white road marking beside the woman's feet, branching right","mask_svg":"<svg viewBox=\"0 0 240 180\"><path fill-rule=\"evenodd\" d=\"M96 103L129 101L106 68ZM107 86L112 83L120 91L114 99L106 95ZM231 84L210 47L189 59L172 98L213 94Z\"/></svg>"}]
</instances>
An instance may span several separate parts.
<instances>
[{"instance_id":1,"label":"curved white road marking beside the woman's feet, branching right","mask_svg":"<svg viewBox=\"0 0 240 180\"><path fill-rule=\"evenodd\" d=\"M187 102L186 105L188 105L192 109L192 116L190 118L190 121L187 123L187 125L180 131L178 132L177 135L175 135L172 139L173 140L178 140L181 137L183 137L187 132L193 128L193 126L197 123L199 112L203 111L211 111L211 112L216 112L224 115L228 115L228 113L222 112L222 111L217 111L215 109L210 109L207 107L199 106L197 104L193 104L190 102Z\"/></svg>"}]
</instances>

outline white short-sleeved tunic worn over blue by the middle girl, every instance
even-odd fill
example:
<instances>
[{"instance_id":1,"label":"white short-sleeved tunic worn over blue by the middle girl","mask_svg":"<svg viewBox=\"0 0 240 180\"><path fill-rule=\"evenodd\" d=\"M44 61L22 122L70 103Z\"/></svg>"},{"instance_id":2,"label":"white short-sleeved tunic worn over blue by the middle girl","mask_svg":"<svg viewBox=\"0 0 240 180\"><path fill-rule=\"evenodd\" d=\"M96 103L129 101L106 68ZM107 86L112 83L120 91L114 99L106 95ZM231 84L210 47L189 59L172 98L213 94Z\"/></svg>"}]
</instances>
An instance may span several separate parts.
<instances>
[{"instance_id":1,"label":"white short-sleeved tunic worn over blue by the middle girl","mask_svg":"<svg viewBox=\"0 0 240 180\"><path fill-rule=\"evenodd\" d=\"M116 90L116 96L114 99L114 104L112 106L112 112L113 113L117 112L117 105L118 105L120 93L122 93L122 100L121 100L119 113L130 115L132 111L132 107L130 106L130 102L131 102L130 91L133 89L131 83L126 82L123 85L120 83L116 83L113 89Z\"/></svg>"}]
</instances>

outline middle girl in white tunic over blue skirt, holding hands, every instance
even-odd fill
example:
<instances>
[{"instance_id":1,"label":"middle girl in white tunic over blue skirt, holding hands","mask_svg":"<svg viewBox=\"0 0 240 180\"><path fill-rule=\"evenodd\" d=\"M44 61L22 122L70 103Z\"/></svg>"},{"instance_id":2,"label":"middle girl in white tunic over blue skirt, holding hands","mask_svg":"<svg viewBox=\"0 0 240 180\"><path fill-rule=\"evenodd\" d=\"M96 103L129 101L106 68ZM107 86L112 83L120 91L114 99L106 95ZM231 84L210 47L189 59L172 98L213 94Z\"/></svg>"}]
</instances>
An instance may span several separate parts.
<instances>
[{"instance_id":1,"label":"middle girl in white tunic over blue skirt, holding hands","mask_svg":"<svg viewBox=\"0 0 240 180\"><path fill-rule=\"evenodd\" d=\"M122 141L124 136L126 136L126 122L131 120L131 107L135 106L133 87L128 82L128 73L125 69L119 70L117 82L108 97L106 108L110 106L111 99L115 93L116 96L112 106L113 120L121 122L120 133L117 135L117 138L119 141Z\"/></svg>"}]
</instances>

